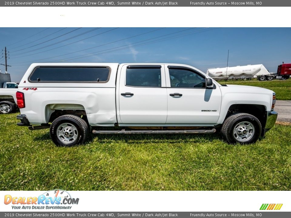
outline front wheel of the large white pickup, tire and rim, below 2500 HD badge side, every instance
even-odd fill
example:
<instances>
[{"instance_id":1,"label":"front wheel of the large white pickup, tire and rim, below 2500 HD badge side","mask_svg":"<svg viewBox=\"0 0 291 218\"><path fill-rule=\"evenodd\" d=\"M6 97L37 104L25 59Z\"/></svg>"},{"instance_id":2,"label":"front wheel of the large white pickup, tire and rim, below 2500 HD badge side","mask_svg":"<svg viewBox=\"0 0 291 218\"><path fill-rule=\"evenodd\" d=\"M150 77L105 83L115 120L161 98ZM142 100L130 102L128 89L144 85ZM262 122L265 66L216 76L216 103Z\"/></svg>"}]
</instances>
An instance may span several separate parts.
<instances>
[{"instance_id":1,"label":"front wheel of the large white pickup, tire and rim, below 2500 HD badge side","mask_svg":"<svg viewBox=\"0 0 291 218\"><path fill-rule=\"evenodd\" d=\"M258 118L245 113L233 114L227 117L221 128L222 137L229 144L255 143L259 139L261 132L262 125Z\"/></svg>"}]
</instances>

